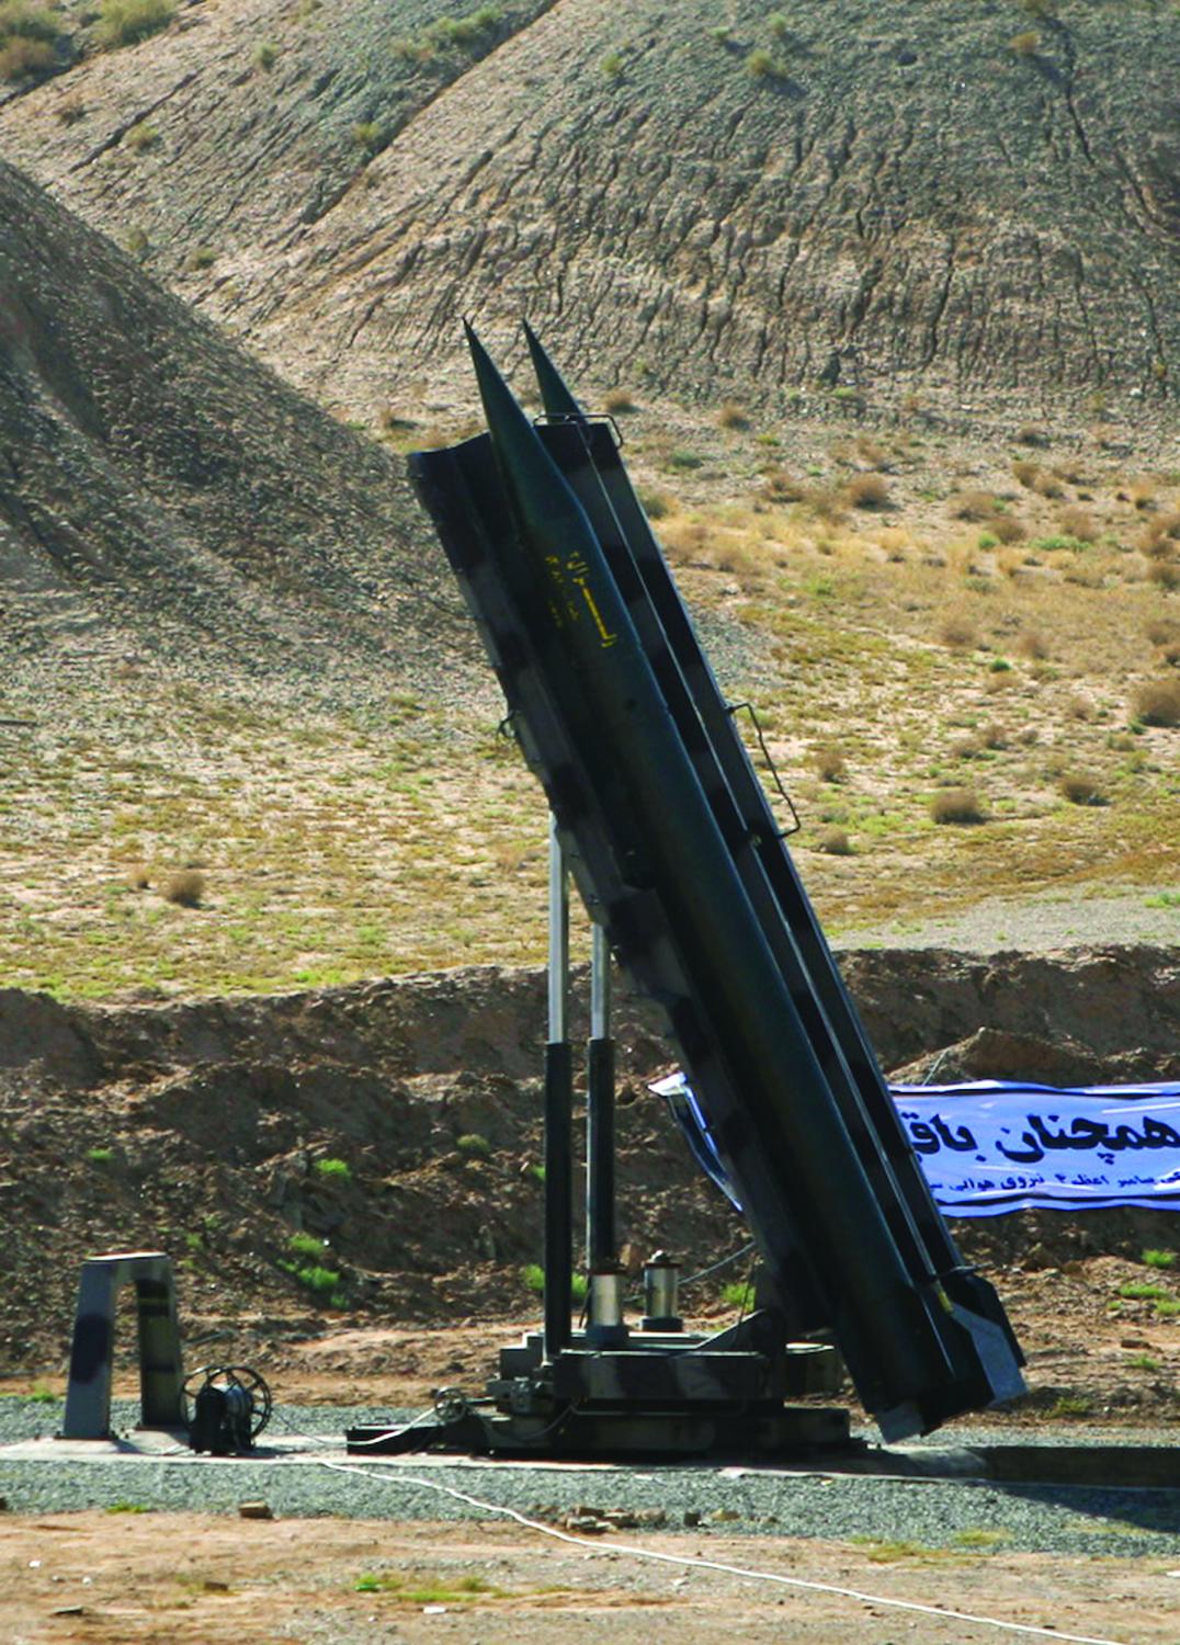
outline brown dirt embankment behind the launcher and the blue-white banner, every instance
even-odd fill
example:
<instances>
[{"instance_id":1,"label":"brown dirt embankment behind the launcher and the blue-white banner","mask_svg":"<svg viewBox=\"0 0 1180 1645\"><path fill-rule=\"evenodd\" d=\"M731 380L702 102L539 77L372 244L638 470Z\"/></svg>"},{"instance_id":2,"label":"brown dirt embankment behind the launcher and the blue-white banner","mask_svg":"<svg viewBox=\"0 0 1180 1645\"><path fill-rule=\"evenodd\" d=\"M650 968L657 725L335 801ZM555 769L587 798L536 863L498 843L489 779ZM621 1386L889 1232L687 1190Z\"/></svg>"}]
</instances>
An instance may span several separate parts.
<instances>
[{"instance_id":1,"label":"brown dirt embankment behind the launcher and the blue-white banner","mask_svg":"<svg viewBox=\"0 0 1180 1645\"><path fill-rule=\"evenodd\" d=\"M844 969L885 1066L918 1077L936 1053L945 1077L1180 1077L1172 951L866 951ZM579 1031L583 995L584 979ZM0 994L0 1370L61 1364L77 1262L118 1247L179 1258L191 1342L249 1342L270 1365L328 1329L336 1367L367 1374L367 1328L527 1313L543 1023L543 975L494 967L168 1007ZM617 1033L624 1237L704 1267L744 1230L647 1092L671 1061L653 1013L624 999ZM1099 1326L1113 1332L1109 1364L1089 1370L1114 1397L1137 1304L1108 1321L1108 1301L1144 1247L1173 1239L1167 1216L1020 1214L958 1232L1004 1270L1034 1351L1060 1357L1073 1331L1085 1359ZM1131 1324L1152 1351L1150 1332L1177 1331L1150 1309ZM377 1359L405 1385L388 1337ZM423 1379L469 1369L462 1354L426 1359Z\"/></svg>"}]
</instances>

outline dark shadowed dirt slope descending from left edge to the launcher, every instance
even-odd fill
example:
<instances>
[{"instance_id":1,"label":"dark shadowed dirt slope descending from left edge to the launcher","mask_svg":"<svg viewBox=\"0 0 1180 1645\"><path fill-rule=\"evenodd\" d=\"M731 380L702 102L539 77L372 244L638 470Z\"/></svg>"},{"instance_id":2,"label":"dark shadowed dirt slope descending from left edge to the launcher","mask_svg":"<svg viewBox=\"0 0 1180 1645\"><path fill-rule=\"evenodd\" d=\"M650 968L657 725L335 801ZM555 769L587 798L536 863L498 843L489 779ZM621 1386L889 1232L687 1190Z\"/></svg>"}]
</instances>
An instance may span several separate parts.
<instances>
[{"instance_id":1,"label":"dark shadowed dirt slope descending from left edge to the launcher","mask_svg":"<svg viewBox=\"0 0 1180 1645\"><path fill-rule=\"evenodd\" d=\"M474 646L438 561L395 459L0 164L8 684L133 697L145 655L257 701L439 681Z\"/></svg>"}]
</instances>

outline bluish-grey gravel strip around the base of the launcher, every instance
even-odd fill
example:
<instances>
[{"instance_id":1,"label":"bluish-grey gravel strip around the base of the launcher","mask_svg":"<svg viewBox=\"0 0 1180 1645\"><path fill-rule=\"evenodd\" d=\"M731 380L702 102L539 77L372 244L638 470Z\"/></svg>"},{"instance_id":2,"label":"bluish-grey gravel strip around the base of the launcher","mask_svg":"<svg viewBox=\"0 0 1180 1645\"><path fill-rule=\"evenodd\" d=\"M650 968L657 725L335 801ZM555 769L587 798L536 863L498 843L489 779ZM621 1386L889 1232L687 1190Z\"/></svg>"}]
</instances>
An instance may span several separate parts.
<instances>
[{"instance_id":1,"label":"bluish-grey gravel strip around the base of the launcher","mask_svg":"<svg viewBox=\"0 0 1180 1645\"><path fill-rule=\"evenodd\" d=\"M291 1408L283 1423L308 1436L339 1436L346 1425L388 1420L388 1411ZM130 1430L137 1408L117 1405L114 1425ZM0 1441L51 1434L59 1406L3 1400ZM281 1425L263 1443L281 1444ZM999 1428L956 1430L955 1443L1045 1443L1043 1436ZM1060 1438L1094 1443L1089 1431ZM1126 1434L1103 1433L1103 1441ZM1136 1443L1173 1443L1172 1434L1136 1431ZM946 1443L946 1436L941 1441ZM347 1462L349 1472L324 1462ZM434 1489L431 1489L434 1487ZM742 1469L718 1466L578 1466L439 1461L436 1457L357 1462L324 1449L319 1459L286 1453L268 1459L196 1459L95 1456L76 1461L0 1456L0 1495L18 1513L54 1513L86 1507L135 1504L174 1512L237 1512L240 1502L263 1499L283 1518L464 1520L487 1518L487 1508L459 1502L443 1489L527 1515L558 1518L591 1510L662 1508L668 1528L685 1515L701 1515L701 1533L810 1536L894 1543L904 1538L930 1548L963 1546L964 1538L1002 1533L1004 1546L1025 1553L1180 1558L1180 1485L1175 1490L999 1485L991 1482L882 1479Z\"/></svg>"}]
</instances>

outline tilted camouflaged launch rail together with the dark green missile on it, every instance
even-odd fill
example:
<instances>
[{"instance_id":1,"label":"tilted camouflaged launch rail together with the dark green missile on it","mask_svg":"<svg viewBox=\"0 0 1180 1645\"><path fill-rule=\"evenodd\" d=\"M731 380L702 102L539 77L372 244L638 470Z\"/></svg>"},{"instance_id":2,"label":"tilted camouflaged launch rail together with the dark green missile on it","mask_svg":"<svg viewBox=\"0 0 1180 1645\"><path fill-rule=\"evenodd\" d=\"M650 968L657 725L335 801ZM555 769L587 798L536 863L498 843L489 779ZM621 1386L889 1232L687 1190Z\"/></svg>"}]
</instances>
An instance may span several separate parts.
<instances>
[{"instance_id":1,"label":"tilted camouflaged launch rail together with the dark green missile on it","mask_svg":"<svg viewBox=\"0 0 1180 1645\"><path fill-rule=\"evenodd\" d=\"M780 849L774 819L741 740L736 763L719 737L718 716L731 737L732 722L678 597L643 566L645 543L632 553L625 492L604 485L576 405L533 429L471 347L495 472L484 441L411 470L579 890L667 1012L787 1316L831 1326L889 1438L1019 1392L999 1304L999 1321L976 1316L973 1288L955 1290L961 1267L923 1240L933 1207L899 1191L910 1156L872 1137L852 1066L867 1046L856 1038L849 1059L833 1031L843 987L810 979L764 862L767 832Z\"/></svg>"}]
</instances>

